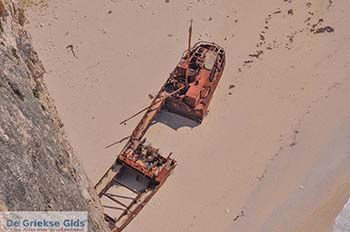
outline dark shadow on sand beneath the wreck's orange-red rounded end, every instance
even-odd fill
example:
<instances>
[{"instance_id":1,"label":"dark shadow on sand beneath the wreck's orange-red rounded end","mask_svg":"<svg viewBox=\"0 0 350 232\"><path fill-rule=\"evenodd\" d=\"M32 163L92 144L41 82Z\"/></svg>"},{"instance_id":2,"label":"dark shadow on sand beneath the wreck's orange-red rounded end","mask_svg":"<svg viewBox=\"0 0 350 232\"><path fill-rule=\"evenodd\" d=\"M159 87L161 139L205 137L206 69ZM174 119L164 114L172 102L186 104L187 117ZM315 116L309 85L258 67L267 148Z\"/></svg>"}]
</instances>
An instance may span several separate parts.
<instances>
[{"instance_id":1,"label":"dark shadow on sand beneath the wreck's orange-red rounded end","mask_svg":"<svg viewBox=\"0 0 350 232\"><path fill-rule=\"evenodd\" d=\"M165 110L161 110L159 112L152 124L154 125L156 123L163 123L164 125L167 125L173 130L178 130L181 127L194 128L199 125L199 123L195 121L170 113Z\"/></svg>"}]
</instances>

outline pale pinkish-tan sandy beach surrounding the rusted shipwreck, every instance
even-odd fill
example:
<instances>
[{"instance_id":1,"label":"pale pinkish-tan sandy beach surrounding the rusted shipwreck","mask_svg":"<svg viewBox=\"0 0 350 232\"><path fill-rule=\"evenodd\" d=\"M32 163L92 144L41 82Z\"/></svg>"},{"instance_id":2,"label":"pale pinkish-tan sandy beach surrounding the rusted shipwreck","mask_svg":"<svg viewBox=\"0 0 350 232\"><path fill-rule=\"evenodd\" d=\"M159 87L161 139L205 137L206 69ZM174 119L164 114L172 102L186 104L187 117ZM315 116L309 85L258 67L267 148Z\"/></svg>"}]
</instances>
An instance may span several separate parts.
<instances>
[{"instance_id":1,"label":"pale pinkish-tan sandy beach surrounding the rusted shipwreck","mask_svg":"<svg viewBox=\"0 0 350 232\"><path fill-rule=\"evenodd\" d=\"M177 160L127 232L322 232L350 196L350 2L62 0L26 28L96 183L193 40L225 48L201 125L162 112L148 141ZM67 46L72 45L74 53Z\"/></svg>"}]
</instances>

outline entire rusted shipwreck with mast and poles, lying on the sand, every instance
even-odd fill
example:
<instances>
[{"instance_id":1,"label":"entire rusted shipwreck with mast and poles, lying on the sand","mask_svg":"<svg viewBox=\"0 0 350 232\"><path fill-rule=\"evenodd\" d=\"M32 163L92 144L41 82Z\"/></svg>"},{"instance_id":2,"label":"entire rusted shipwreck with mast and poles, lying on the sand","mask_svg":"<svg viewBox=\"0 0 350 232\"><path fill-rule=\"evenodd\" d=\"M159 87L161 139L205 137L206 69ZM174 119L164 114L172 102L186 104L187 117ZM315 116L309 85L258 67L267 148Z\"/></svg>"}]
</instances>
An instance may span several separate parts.
<instances>
[{"instance_id":1,"label":"entire rusted shipwreck with mast and poles, lying on the sand","mask_svg":"<svg viewBox=\"0 0 350 232\"><path fill-rule=\"evenodd\" d=\"M105 220L112 232L122 231L160 189L176 167L172 153L163 156L144 138L160 110L201 123L225 66L225 52L220 46L198 42L191 46L192 21L188 49L150 106L120 124L144 113L126 145L95 185L105 210ZM73 52L73 50L72 50ZM149 96L150 97L150 96Z\"/></svg>"}]
</instances>

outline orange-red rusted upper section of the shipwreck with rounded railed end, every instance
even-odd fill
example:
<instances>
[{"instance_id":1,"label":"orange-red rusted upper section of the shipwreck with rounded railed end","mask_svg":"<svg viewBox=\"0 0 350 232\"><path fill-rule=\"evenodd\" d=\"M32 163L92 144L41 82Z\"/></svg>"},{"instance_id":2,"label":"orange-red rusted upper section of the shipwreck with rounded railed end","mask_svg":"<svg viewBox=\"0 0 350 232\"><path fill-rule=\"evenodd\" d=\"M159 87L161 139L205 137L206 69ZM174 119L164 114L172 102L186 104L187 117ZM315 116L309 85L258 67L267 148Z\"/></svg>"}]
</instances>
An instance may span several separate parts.
<instances>
[{"instance_id":1,"label":"orange-red rusted upper section of the shipwreck with rounded railed end","mask_svg":"<svg viewBox=\"0 0 350 232\"><path fill-rule=\"evenodd\" d=\"M199 123L225 67L224 49L214 43L199 42L180 60L164 85L165 92L183 88L167 98L165 109Z\"/></svg>"}]
</instances>

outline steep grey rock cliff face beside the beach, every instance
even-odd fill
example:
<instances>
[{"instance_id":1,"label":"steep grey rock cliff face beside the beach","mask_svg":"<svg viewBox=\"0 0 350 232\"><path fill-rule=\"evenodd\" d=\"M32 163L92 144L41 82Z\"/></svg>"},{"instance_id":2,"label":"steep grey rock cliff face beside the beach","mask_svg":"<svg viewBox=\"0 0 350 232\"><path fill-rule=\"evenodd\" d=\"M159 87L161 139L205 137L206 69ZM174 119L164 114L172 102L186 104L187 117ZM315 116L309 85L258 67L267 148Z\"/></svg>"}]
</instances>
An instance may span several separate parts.
<instances>
[{"instance_id":1,"label":"steep grey rock cliff face beside the beach","mask_svg":"<svg viewBox=\"0 0 350 232\"><path fill-rule=\"evenodd\" d=\"M0 210L88 211L89 231L109 231L64 136L24 20L16 2L0 0Z\"/></svg>"}]
</instances>

